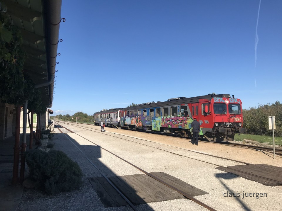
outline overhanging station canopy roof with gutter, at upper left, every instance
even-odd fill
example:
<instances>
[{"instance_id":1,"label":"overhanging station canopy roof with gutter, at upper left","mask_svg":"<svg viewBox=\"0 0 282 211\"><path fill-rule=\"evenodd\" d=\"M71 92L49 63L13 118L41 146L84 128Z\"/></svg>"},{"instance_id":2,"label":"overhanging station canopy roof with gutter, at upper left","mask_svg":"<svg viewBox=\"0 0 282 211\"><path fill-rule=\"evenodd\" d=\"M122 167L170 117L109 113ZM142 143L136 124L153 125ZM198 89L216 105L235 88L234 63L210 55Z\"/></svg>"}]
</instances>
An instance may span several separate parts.
<instances>
[{"instance_id":1,"label":"overhanging station canopy roof with gutter, at upper left","mask_svg":"<svg viewBox=\"0 0 282 211\"><path fill-rule=\"evenodd\" d=\"M52 107L62 1L1 0L1 4L21 31L26 51L24 72L37 86L50 82L38 89L44 105Z\"/></svg>"}]
</instances>

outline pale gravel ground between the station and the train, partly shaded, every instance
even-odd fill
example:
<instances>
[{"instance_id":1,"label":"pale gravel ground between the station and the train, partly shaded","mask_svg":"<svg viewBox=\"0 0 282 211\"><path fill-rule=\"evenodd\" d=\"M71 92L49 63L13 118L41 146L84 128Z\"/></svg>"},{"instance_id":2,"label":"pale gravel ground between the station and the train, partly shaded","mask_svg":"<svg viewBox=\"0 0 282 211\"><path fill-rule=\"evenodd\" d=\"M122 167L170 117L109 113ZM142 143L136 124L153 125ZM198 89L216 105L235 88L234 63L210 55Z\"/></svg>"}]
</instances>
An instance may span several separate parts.
<instances>
[{"instance_id":1,"label":"pale gravel ground between the station and the train, partly shaded","mask_svg":"<svg viewBox=\"0 0 282 211\"><path fill-rule=\"evenodd\" d=\"M75 126L70 125L64 126L69 128L70 130L77 132L77 134L95 142L99 146L104 147L105 149L108 149L109 151L121 156L123 159L128 160L132 164L135 164L136 166L144 169L147 172L164 171L165 173L182 179L183 181L208 192L209 194L197 196L195 198L209 205L210 207L213 207L216 210L281 210L282 208L281 186L264 186L260 183L249 181L236 175L214 169L216 167L214 164L228 166L240 165L241 163L212 158L210 156L200 155L184 149L164 146L154 142L162 142L168 145L174 144L178 147L198 150L204 153L214 154L215 151L217 153L217 156L228 155L228 153L225 152L226 149L225 151L224 149L214 150L212 144L209 143L200 143L198 148L196 148L195 145L188 143L188 139L184 139L185 141L187 141L187 143L184 143L183 139L179 140L179 138L164 136L162 136L162 138L156 138L156 136L160 135L146 133L145 136L147 136L147 138L149 137L150 139L152 139L151 141L154 142L147 142L141 139L124 137L117 134L113 135L112 133L109 133L110 130L113 130L115 132L118 131L119 133L126 132L126 135L132 135L136 137L138 136L145 139L144 133L138 133L137 135L135 131L106 128L107 131L102 133L87 131L81 128L75 128ZM98 126L93 126L93 128L100 129ZM58 132L57 129L56 132ZM107 133L113 136L105 135ZM104 151L103 149L100 149L93 143L88 142L75 133L68 133L67 136L70 137L70 139L74 140L75 145L77 145L106 176L131 175L141 173L131 165L125 163L124 161L118 159L117 157ZM54 136L54 139L52 139L52 141L48 143L54 144L55 149L62 150L63 152L68 154L71 159L73 159L80 165L84 174L83 187L79 191L61 193L55 196L47 196L37 190L25 190L18 210L132 210L130 207L105 208L103 206L87 179L87 177L101 176L100 173L78 151L78 149L73 146L73 144L67 139L65 135L56 134ZM149 146L141 145L139 143L147 144ZM170 152L189 156L191 158L197 158L203 161L208 161L213 164L208 164L188 157L164 152L160 149L155 149L152 147L165 149ZM211 151L206 152L208 151L207 148L210 148ZM233 151L237 151L235 152L237 153L237 155L239 154L238 151L241 150L240 148L237 150L237 148L233 147L232 150L230 150L230 148L228 149L229 152L231 151L230 154L233 154ZM252 150L248 150L248 152L252 152ZM263 156L262 153L260 153L260 155ZM237 156L237 158L233 157L233 159L238 158L240 158L241 160L246 159L245 156ZM224 197L224 193L227 193L227 191L234 193L243 193L243 191L244 193L267 193L267 197L261 197L258 199L255 197ZM138 205L137 209L160 211L207 210L187 199L148 203L145 205Z\"/></svg>"}]
</instances>

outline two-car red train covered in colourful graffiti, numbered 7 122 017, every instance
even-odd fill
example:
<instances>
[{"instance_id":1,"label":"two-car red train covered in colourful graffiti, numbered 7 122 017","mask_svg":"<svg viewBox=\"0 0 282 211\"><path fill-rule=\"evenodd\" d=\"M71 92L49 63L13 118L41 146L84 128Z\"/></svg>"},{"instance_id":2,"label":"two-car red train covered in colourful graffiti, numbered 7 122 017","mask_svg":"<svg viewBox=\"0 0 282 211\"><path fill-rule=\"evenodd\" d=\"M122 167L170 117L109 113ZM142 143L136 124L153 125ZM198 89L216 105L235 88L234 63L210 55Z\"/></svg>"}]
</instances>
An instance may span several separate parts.
<instances>
[{"instance_id":1,"label":"two-car red train covered in colourful graffiti, numbered 7 122 017","mask_svg":"<svg viewBox=\"0 0 282 211\"><path fill-rule=\"evenodd\" d=\"M191 123L200 122L200 137L212 142L234 140L243 127L242 102L229 94L171 98L165 102L142 103L134 107L100 111L95 123L132 130L150 130L191 137ZM113 115L115 122L111 120Z\"/></svg>"}]
</instances>

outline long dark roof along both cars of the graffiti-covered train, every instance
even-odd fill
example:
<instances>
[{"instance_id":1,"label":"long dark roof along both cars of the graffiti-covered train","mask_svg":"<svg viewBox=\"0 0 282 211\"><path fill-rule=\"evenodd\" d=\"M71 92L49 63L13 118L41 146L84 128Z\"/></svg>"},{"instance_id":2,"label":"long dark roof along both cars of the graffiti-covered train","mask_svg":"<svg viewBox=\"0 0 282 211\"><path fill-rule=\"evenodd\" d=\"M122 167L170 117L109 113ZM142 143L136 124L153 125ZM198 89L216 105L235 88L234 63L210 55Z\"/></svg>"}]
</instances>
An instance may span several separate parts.
<instances>
[{"instance_id":1,"label":"long dark roof along both cars of the graffiti-covered train","mask_svg":"<svg viewBox=\"0 0 282 211\"><path fill-rule=\"evenodd\" d=\"M127 108L117 108L117 110L113 112L117 112L118 110L140 110L143 108L155 108L155 107L164 107L164 106L170 106L175 104L185 104L185 103L198 103L199 99L207 99L211 100L214 97L230 97L230 94L208 94L208 95L202 95L197 97L176 97L176 98L170 98L167 101L164 102L148 102L148 103L140 103L137 104L137 106L127 107ZM96 112L95 114L102 114L102 113L110 113L109 110Z\"/></svg>"}]
</instances>

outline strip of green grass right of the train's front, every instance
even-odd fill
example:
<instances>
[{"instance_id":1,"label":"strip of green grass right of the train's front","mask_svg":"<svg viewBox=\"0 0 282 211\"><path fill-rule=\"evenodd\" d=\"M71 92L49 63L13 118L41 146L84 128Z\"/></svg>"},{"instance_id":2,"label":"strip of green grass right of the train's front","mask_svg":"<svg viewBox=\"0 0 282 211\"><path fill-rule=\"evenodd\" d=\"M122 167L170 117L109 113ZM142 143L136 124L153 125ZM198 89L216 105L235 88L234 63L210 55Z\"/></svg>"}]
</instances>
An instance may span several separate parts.
<instances>
[{"instance_id":1,"label":"strip of green grass right of the train's front","mask_svg":"<svg viewBox=\"0 0 282 211\"><path fill-rule=\"evenodd\" d=\"M243 141L243 139L248 139L252 141L257 141L260 143L273 143L273 138L272 136L261 136L261 135L251 135L251 134L236 134L234 137L235 141ZM282 145L282 137L274 137L275 144L276 145Z\"/></svg>"}]
</instances>

